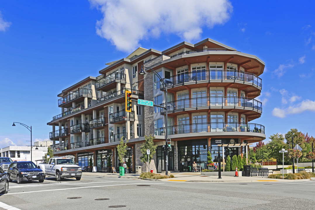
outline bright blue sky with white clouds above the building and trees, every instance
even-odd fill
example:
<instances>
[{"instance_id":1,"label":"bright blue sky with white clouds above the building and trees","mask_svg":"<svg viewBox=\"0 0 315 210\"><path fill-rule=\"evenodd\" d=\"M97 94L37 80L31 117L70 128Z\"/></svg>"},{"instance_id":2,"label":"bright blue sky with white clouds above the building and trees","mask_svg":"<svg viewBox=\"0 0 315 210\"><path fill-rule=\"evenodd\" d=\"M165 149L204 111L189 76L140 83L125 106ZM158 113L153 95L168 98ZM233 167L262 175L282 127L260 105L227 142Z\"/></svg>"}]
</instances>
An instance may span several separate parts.
<instances>
[{"instance_id":1,"label":"bright blue sky with white clouds above the building and trees","mask_svg":"<svg viewBox=\"0 0 315 210\"><path fill-rule=\"evenodd\" d=\"M265 62L266 137L291 128L315 135L313 1L1 1L0 148L49 138L62 90L99 75L137 47L219 41Z\"/></svg>"}]
</instances>

